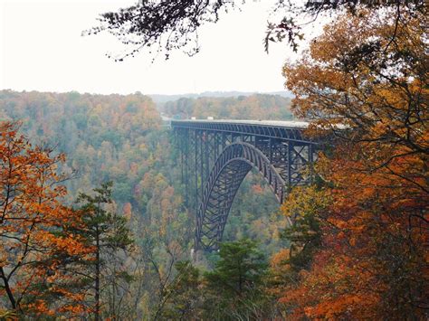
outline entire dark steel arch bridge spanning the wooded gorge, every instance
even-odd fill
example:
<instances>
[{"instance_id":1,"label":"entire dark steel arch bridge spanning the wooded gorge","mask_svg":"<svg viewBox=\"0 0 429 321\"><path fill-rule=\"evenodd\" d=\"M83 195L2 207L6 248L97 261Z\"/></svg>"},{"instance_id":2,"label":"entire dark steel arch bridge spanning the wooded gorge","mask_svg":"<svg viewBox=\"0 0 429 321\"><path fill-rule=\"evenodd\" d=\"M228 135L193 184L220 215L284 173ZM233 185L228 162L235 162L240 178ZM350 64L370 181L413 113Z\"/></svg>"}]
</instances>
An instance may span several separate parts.
<instances>
[{"instance_id":1,"label":"entire dark steel arch bridge spanning the wooded gorge","mask_svg":"<svg viewBox=\"0 0 429 321\"><path fill-rule=\"evenodd\" d=\"M216 250L240 184L253 168L279 203L311 184L317 143L308 123L260 120L171 120L185 202L196 214L195 250Z\"/></svg>"}]
</instances>

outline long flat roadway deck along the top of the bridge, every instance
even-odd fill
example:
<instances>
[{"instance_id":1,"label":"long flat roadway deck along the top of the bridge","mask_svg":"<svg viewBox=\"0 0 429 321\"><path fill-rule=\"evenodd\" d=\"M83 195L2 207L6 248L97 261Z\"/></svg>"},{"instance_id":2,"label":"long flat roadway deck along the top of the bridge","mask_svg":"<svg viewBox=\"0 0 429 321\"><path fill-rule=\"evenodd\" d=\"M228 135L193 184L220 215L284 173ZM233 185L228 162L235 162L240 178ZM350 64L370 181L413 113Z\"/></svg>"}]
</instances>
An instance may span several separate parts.
<instances>
[{"instance_id":1,"label":"long flat roadway deck along the top of the bridge","mask_svg":"<svg viewBox=\"0 0 429 321\"><path fill-rule=\"evenodd\" d=\"M288 139L299 142L307 142L302 137L302 130L309 126L304 121L281 120L172 120L172 127L203 129L234 133L236 135L255 135L260 137Z\"/></svg>"}]
</instances>

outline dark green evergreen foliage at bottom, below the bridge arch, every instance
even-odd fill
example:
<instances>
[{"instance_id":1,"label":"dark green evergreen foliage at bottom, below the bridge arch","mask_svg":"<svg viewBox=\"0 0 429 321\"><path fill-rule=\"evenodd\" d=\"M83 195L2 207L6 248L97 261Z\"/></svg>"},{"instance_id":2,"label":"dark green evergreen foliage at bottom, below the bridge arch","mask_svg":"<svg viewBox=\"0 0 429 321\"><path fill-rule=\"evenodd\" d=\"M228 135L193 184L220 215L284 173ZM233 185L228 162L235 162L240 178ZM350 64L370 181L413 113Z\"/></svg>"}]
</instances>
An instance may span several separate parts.
<instances>
[{"instance_id":1,"label":"dark green evergreen foliage at bottom, below the bridge arch","mask_svg":"<svg viewBox=\"0 0 429 321\"><path fill-rule=\"evenodd\" d=\"M224 242L215 268L202 273L190 261L176 264L160 316L165 319L263 319L275 316L266 290L268 263L256 243Z\"/></svg>"}]
</instances>

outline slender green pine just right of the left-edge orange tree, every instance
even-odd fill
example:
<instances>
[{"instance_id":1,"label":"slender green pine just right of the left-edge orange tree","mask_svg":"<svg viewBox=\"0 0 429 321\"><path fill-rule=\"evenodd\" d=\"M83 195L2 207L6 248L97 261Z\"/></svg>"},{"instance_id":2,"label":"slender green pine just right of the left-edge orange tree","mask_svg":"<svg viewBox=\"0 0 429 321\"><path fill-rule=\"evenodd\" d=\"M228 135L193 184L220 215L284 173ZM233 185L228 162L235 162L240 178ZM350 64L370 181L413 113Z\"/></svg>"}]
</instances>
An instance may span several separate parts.
<instances>
[{"instance_id":1,"label":"slender green pine just right of the left-edge orange tree","mask_svg":"<svg viewBox=\"0 0 429 321\"><path fill-rule=\"evenodd\" d=\"M77 199L77 203L82 204L83 227L76 232L94 248L90 258L77 263L77 269L81 270L82 277L90 279L95 320L100 320L101 305L107 301L106 297L102 297L103 289L110 289L112 296L109 310L104 315L118 317L120 311L115 307L115 298L120 296L120 282L131 280L124 260L133 240L127 220L106 209L106 205L112 202L111 187L111 182L101 184L100 188L94 189L94 195L80 194Z\"/></svg>"}]
</instances>

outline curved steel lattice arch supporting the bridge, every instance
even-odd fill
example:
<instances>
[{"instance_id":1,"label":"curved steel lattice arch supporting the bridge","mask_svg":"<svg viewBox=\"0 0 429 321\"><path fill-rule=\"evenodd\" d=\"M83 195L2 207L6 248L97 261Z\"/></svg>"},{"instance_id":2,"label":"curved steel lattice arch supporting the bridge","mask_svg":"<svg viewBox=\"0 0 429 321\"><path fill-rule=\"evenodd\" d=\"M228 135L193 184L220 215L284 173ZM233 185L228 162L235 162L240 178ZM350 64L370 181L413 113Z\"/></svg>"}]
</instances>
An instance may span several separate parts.
<instances>
[{"instance_id":1,"label":"curved steel lattice arch supporting the bridge","mask_svg":"<svg viewBox=\"0 0 429 321\"><path fill-rule=\"evenodd\" d=\"M235 194L252 168L259 171L282 203L285 182L268 157L248 143L236 142L226 146L215 160L196 213L197 250L217 249Z\"/></svg>"}]
</instances>

